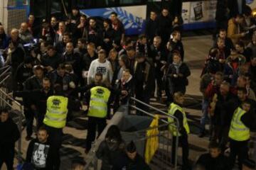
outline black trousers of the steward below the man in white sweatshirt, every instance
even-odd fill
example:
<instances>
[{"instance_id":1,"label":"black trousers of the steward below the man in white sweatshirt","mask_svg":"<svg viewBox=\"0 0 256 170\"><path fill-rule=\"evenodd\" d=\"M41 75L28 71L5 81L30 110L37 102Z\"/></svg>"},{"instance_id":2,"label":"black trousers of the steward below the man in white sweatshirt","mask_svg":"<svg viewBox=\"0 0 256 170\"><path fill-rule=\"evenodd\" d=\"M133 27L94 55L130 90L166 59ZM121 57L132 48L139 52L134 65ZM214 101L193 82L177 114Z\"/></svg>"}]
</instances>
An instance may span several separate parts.
<instances>
[{"instance_id":1,"label":"black trousers of the steward below the man in white sweatshirt","mask_svg":"<svg viewBox=\"0 0 256 170\"><path fill-rule=\"evenodd\" d=\"M92 147L92 142L95 140L96 137L96 130L99 136L106 127L106 125L106 118L95 118L88 116L88 129L86 138L87 151L89 151Z\"/></svg>"}]
</instances>

